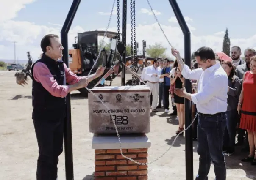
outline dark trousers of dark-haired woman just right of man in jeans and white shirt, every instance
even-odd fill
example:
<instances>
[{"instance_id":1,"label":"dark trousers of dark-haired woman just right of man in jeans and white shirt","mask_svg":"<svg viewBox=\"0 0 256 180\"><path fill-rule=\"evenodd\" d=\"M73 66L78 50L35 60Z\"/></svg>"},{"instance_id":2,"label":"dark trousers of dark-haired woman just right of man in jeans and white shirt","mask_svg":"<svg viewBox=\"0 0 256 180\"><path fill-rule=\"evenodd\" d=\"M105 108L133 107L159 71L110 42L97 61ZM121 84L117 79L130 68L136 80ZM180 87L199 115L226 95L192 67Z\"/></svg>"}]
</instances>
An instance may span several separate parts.
<instances>
[{"instance_id":1,"label":"dark trousers of dark-haired woman just right of man in jeans and white shirt","mask_svg":"<svg viewBox=\"0 0 256 180\"><path fill-rule=\"evenodd\" d=\"M227 127L225 129L225 135L223 140L223 147L226 150L234 151L236 143L236 126L238 120L237 109L227 111Z\"/></svg>"}]
</instances>

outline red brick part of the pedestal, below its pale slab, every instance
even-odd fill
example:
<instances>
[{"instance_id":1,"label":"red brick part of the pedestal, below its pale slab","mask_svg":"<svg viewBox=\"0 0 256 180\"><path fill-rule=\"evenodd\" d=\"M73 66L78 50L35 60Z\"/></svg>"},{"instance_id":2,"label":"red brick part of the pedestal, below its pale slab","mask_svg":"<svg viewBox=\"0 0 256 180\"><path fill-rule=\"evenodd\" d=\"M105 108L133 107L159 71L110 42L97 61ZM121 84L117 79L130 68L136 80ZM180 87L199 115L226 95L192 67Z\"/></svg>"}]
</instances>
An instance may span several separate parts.
<instances>
[{"instance_id":1,"label":"red brick part of the pedestal, below its pale slab","mask_svg":"<svg viewBox=\"0 0 256 180\"><path fill-rule=\"evenodd\" d=\"M147 163L147 148L122 149L128 158ZM138 165L120 149L95 150L95 180L147 180L147 165Z\"/></svg>"}]
</instances>

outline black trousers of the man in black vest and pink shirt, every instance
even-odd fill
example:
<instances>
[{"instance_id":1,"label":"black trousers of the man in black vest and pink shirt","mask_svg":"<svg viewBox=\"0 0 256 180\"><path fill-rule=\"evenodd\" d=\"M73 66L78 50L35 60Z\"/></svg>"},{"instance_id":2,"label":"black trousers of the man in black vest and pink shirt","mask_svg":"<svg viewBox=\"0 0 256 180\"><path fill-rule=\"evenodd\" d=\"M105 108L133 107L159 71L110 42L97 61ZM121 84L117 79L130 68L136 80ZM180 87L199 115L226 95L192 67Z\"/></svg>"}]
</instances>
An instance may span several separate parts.
<instances>
[{"instance_id":1,"label":"black trousers of the man in black vest and pink shirt","mask_svg":"<svg viewBox=\"0 0 256 180\"><path fill-rule=\"evenodd\" d=\"M33 120L39 147L36 180L56 180L63 151L64 120Z\"/></svg>"}]
</instances>

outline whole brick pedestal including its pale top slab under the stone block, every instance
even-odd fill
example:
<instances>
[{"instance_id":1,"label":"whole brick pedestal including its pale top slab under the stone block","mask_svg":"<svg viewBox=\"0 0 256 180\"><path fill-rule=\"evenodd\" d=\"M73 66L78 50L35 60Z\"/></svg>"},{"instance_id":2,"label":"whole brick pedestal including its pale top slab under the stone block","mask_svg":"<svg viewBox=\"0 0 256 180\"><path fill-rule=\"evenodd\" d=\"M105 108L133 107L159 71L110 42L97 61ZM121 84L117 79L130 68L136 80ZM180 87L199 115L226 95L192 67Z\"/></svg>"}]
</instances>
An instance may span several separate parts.
<instances>
[{"instance_id":1,"label":"whole brick pedestal including its pale top slab under the stone block","mask_svg":"<svg viewBox=\"0 0 256 180\"><path fill-rule=\"evenodd\" d=\"M147 165L138 165L123 158L116 139L114 136L101 136L100 140L97 137L92 142L95 149L95 180L147 180ZM147 163L147 150L151 143L146 139L145 134L136 138L121 137L122 153L140 163Z\"/></svg>"}]
</instances>

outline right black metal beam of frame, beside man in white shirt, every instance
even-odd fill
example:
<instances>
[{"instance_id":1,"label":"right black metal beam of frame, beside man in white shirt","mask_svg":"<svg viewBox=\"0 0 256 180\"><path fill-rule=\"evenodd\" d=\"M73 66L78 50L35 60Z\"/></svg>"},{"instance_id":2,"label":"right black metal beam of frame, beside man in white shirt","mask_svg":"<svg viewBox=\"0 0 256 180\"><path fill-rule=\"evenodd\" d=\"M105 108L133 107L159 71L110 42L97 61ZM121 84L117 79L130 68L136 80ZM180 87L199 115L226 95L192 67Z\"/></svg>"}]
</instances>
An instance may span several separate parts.
<instances>
[{"instance_id":1,"label":"right black metal beam of frame, beside man in white shirt","mask_svg":"<svg viewBox=\"0 0 256 180\"><path fill-rule=\"evenodd\" d=\"M173 8L173 12L178 20L181 30L184 34L184 61L189 67L191 66L191 42L190 31L186 24L184 16L178 6L176 0L169 0L170 5ZM186 91L191 93L191 82L189 79L185 80ZM185 127L187 128L192 122L191 101L185 98ZM192 140L192 128L185 131L185 150L186 150L186 180L193 180L193 140Z\"/></svg>"}]
</instances>

